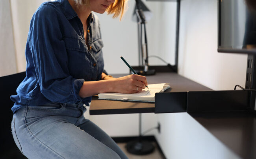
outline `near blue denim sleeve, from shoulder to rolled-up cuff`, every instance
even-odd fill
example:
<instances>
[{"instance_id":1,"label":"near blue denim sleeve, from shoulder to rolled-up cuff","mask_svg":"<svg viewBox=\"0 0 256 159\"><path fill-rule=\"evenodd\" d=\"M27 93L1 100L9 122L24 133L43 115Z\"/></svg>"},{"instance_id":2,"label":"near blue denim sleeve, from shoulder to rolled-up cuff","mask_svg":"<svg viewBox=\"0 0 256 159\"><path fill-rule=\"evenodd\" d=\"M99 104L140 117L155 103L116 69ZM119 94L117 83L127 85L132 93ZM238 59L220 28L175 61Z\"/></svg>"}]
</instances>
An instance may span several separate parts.
<instances>
[{"instance_id":1,"label":"near blue denim sleeve, from shoulder to rolled-up cuff","mask_svg":"<svg viewBox=\"0 0 256 159\"><path fill-rule=\"evenodd\" d=\"M69 73L69 61L61 23L54 7L41 5L32 18L29 46L41 93L52 102L76 103L84 79Z\"/></svg>"}]
</instances>

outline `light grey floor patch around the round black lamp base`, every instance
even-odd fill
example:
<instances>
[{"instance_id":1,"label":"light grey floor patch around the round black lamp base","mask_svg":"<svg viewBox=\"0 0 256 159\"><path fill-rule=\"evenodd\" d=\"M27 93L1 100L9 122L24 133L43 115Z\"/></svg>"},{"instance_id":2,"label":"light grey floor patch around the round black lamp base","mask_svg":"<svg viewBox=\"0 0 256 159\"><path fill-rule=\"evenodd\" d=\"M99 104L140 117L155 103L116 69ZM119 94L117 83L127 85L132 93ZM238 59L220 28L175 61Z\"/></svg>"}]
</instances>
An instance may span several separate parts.
<instances>
[{"instance_id":1,"label":"light grey floor patch around the round black lamp base","mask_svg":"<svg viewBox=\"0 0 256 159\"><path fill-rule=\"evenodd\" d=\"M156 143L153 143L153 145L155 146L154 152L148 155L130 154L129 152L126 151L126 148L125 148L126 143L117 143L117 145L122 149L122 151L127 155L129 159L163 159L161 157L160 152L158 151L158 148L156 147Z\"/></svg>"}]
</instances>

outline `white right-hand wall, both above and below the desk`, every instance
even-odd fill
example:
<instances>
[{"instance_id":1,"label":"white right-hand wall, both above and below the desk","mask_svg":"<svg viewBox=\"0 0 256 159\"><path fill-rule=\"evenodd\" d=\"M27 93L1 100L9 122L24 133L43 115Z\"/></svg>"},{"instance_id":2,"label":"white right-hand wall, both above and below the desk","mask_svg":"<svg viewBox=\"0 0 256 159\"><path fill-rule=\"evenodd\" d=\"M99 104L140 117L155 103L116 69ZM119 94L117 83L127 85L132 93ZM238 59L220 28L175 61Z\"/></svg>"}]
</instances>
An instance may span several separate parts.
<instances>
[{"instance_id":1,"label":"white right-hand wall, both above and below the desk","mask_svg":"<svg viewBox=\"0 0 256 159\"><path fill-rule=\"evenodd\" d=\"M180 9L178 73L213 90L245 86L247 55L217 52L217 0L181 0ZM187 113L157 120L156 138L168 159L239 158Z\"/></svg>"}]
</instances>

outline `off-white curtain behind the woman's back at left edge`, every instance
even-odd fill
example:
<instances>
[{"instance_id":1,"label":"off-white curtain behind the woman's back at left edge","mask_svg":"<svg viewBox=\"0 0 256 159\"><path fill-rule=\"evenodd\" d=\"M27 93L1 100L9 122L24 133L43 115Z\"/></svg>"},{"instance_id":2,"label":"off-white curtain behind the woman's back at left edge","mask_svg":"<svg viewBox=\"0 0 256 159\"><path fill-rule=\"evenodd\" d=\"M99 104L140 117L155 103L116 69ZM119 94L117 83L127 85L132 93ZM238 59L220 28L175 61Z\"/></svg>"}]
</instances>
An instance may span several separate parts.
<instances>
[{"instance_id":1,"label":"off-white curtain behind the woman's back at left edge","mask_svg":"<svg viewBox=\"0 0 256 159\"><path fill-rule=\"evenodd\" d=\"M0 76L26 70L25 47L33 13L46 0L0 0Z\"/></svg>"}]
</instances>

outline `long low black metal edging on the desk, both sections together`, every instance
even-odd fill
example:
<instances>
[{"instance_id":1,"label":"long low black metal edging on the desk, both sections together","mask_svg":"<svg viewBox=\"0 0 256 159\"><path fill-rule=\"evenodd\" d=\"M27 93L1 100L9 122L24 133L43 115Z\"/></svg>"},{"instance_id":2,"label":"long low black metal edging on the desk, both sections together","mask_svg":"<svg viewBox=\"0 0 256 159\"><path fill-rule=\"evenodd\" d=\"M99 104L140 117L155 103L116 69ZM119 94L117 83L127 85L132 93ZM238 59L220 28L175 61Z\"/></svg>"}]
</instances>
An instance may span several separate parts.
<instances>
[{"instance_id":1,"label":"long low black metal edging on the desk, both sections together","mask_svg":"<svg viewBox=\"0 0 256 159\"><path fill-rule=\"evenodd\" d=\"M156 93L155 100L155 113L247 111L249 110L250 91Z\"/></svg>"}]
</instances>

